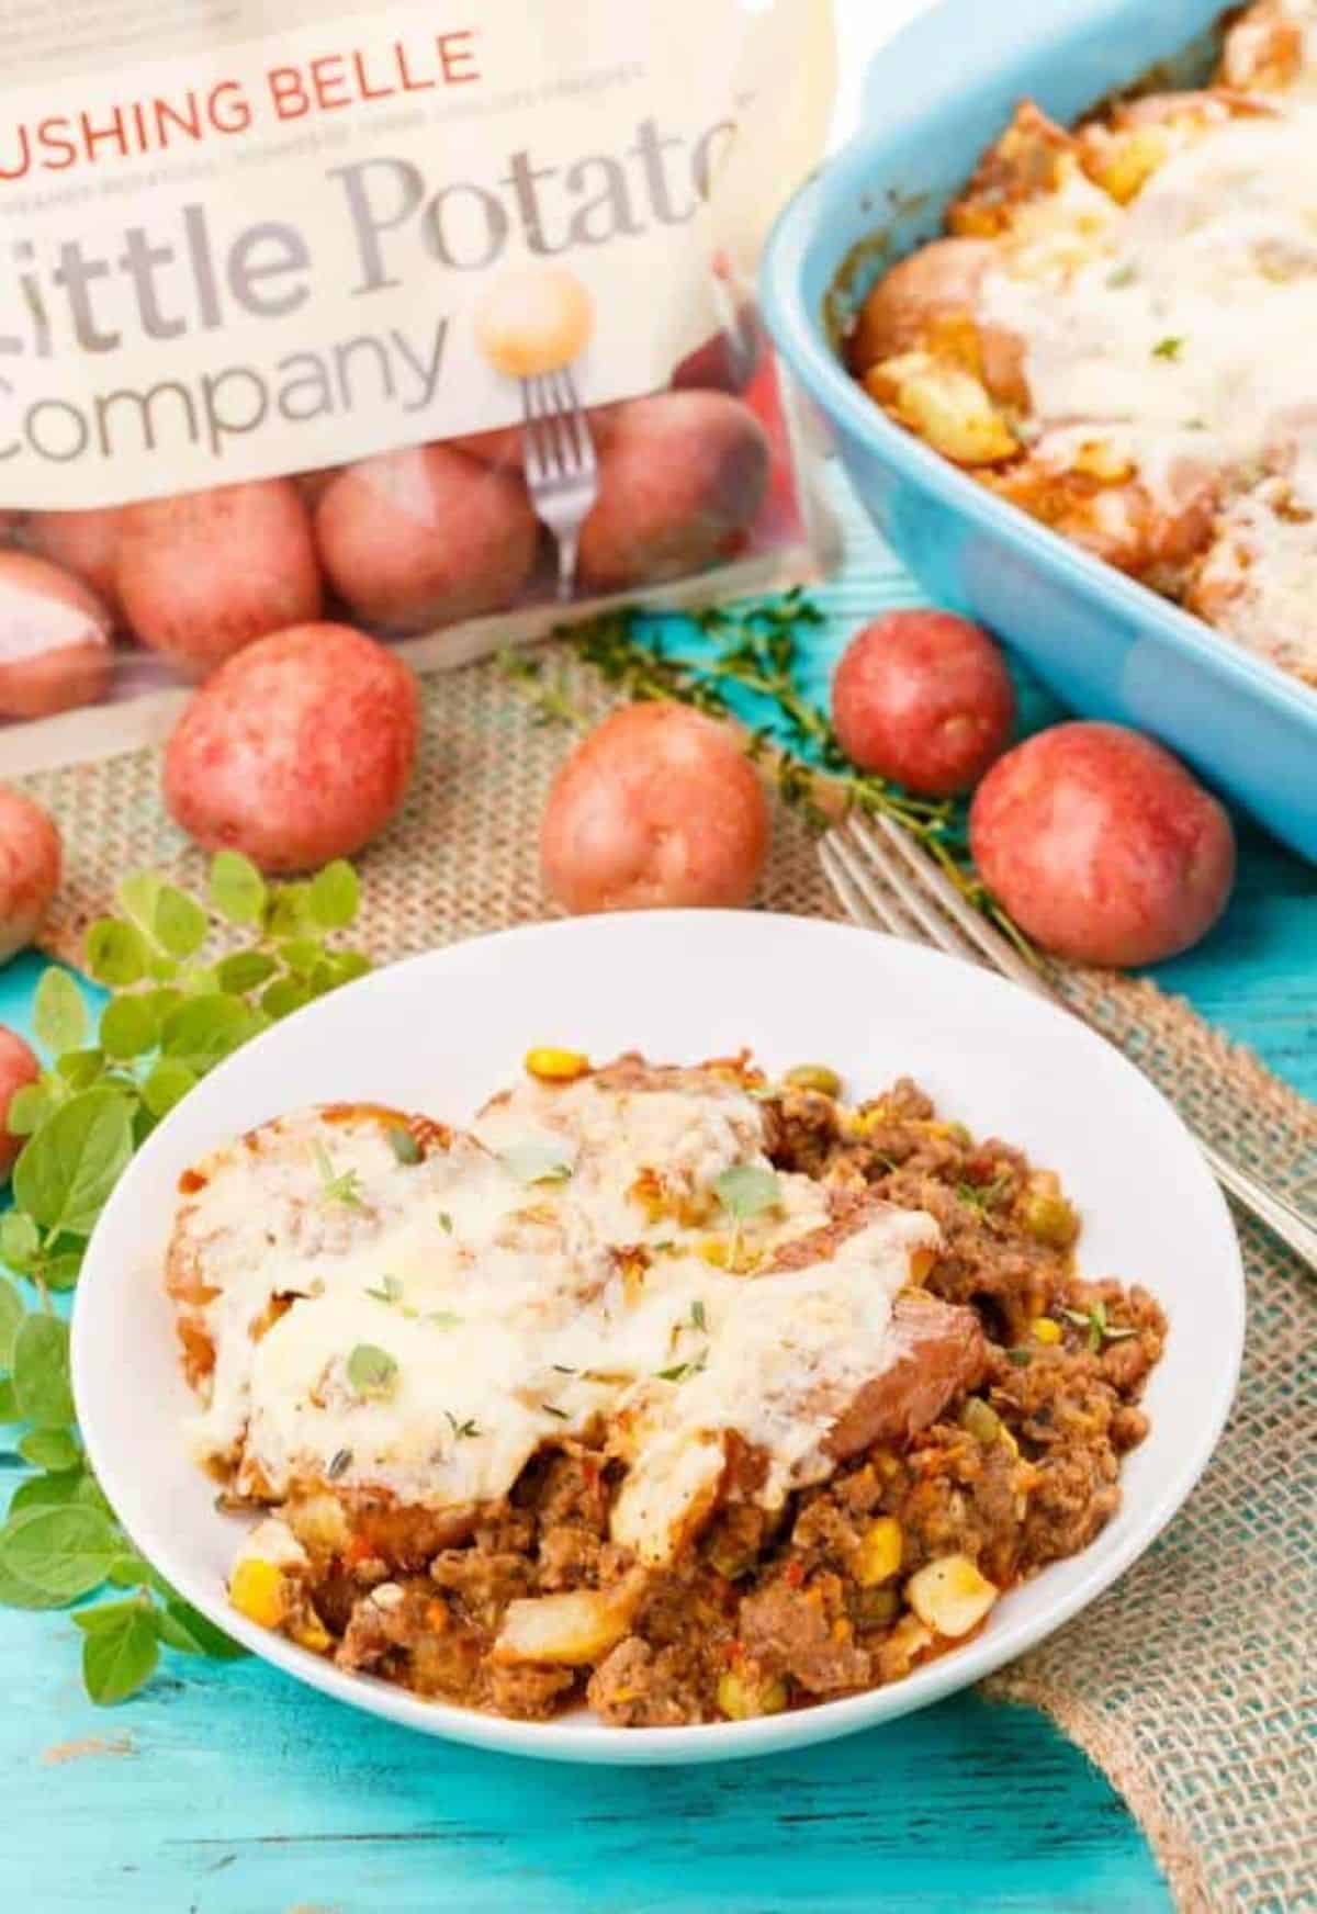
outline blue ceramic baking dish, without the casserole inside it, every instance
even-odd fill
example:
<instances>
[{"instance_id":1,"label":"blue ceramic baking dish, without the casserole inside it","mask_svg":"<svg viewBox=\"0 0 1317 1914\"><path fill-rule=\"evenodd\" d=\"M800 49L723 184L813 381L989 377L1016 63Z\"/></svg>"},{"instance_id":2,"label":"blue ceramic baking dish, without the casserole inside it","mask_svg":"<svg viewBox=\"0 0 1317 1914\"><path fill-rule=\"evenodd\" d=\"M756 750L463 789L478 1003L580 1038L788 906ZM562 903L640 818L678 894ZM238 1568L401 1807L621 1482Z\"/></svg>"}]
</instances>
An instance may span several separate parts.
<instances>
[{"instance_id":1,"label":"blue ceramic baking dish, without the casserole inside it","mask_svg":"<svg viewBox=\"0 0 1317 1914\"><path fill-rule=\"evenodd\" d=\"M865 126L777 220L762 299L856 492L921 586L1001 634L1072 710L1152 731L1317 861L1317 693L892 425L837 358L825 316L838 279L861 299L940 230L1020 98L1070 122L1154 67L1193 84L1219 13L1221 0L944 0L877 56Z\"/></svg>"}]
</instances>

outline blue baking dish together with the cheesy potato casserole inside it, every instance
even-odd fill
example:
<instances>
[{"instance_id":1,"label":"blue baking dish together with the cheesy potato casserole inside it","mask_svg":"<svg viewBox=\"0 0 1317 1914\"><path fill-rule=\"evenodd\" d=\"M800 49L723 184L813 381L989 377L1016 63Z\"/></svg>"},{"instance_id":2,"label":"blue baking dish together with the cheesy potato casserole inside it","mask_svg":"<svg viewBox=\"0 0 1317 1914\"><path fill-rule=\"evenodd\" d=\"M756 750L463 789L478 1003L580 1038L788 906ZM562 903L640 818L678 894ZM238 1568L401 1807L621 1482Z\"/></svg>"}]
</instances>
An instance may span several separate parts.
<instances>
[{"instance_id":1,"label":"blue baking dish together with the cheesy potato casserole inside it","mask_svg":"<svg viewBox=\"0 0 1317 1914\"><path fill-rule=\"evenodd\" d=\"M1317 857L1317 6L949 0L764 289L921 582Z\"/></svg>"}]
</instances>

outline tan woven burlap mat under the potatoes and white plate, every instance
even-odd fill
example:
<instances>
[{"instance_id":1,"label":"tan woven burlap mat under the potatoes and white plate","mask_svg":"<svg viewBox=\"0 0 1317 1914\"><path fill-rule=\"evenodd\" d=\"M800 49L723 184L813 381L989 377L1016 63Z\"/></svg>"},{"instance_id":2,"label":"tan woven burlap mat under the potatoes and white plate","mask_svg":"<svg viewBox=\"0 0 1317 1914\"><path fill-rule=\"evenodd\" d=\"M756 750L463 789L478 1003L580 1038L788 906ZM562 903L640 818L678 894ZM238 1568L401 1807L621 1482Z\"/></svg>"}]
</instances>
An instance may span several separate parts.
<instances>
[{"instance_id":1,"label":"tan woven burlap mat under the potatoes and white plate","mask_svg":"<svg viewBox=\"0 0 1317 1914\"><path fill-rule=\"evenodd\" d=\"M542 657L578 710L603 716L609 693L586 666L561 647ZM362 859L360 940L379 961L546 915L536 827L567 735L538 723L496 664L425 691L412 796ZM25 785L67 844L54 953L77 963L126 869L201 879L203 857L161 810L159 752ZM837 915L794 815L779 815L762 901ZM1076 972L1068 988L1202 1131L1311 1198L1317 1106L1147 982ZM988 1692L1045 1709L1106 1770L1181 1908L1290 1914L1317 1908L1317 1280L1237 1223L1248 1351L1212 1468L1137 1568Z\"/></svg>"}]
</instances>

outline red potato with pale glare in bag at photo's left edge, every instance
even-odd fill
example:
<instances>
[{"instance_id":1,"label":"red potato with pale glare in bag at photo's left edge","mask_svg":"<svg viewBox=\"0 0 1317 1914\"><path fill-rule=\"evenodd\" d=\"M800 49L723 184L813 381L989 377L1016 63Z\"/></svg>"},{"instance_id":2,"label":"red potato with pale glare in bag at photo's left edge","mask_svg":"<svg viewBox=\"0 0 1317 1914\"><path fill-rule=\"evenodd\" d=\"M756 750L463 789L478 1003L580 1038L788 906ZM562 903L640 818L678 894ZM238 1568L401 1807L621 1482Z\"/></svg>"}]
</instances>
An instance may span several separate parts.
<instances>
[{"instance_id":1,"label":"red potato with pale glare in bag at photo's left edge","mask_svg":"<svg viewBox=\"0 0 1317 1914\"><path fill-rule=\"evenodd\" d=\"M31 551L0 551L0 718L50 718L109 689L109 609Z\"/></svg>"}]
</instances>

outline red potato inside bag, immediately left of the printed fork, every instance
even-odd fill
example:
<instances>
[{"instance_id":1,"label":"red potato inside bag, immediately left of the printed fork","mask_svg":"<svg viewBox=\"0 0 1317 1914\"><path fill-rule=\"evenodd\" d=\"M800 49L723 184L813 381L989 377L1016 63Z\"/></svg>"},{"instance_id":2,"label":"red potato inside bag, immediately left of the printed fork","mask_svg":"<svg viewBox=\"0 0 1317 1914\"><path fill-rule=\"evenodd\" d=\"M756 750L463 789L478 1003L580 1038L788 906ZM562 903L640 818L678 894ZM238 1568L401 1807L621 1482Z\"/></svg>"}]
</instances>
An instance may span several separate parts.
<instances>
[{"instance_id":1,"label":"red potato inside bag, immediately left of the printed fork","mask_svg":"<svg viewBox=\"0 0 1317 1914\"><path fill-rule=\"evenodd\" d=\"M540 526L519 471L417 446L348 465L316 507L316 538L360 618L425 632L511 605Z\"/></svg>"}]
</instances>

